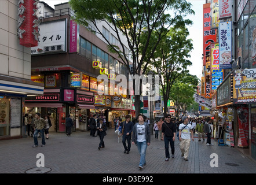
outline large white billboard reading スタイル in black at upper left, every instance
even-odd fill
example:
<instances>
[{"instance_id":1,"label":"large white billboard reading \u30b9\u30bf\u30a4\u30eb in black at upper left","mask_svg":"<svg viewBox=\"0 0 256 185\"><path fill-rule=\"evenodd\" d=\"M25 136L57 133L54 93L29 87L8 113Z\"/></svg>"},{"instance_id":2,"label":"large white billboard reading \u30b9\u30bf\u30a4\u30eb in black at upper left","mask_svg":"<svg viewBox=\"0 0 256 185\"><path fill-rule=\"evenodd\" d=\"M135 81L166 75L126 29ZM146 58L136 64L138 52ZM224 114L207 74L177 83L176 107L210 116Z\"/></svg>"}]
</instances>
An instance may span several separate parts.
<instances>
[{"instance_id":1,"label":"large white billboard reading \u30b9\u30bf\u30a4\u30eb in black at upper left","mask_svg":"<svg viewBox=\"0 0 256 185\"><path fill-rule=\"evenodd\" d=\"M31 47L32 55L67 51L67 19L41 23L38 29L40 39L37 47Z\"/></svg>"}]
</instances>

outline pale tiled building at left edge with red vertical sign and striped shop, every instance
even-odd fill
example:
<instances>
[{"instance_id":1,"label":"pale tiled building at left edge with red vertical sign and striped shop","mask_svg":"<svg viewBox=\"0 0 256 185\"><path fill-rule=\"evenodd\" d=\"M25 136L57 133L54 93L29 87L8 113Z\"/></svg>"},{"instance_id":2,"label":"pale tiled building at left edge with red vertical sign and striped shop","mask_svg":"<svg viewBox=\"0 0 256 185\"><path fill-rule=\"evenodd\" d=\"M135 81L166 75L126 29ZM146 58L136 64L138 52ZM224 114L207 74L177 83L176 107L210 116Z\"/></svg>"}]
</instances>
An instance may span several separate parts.
<instances>
[{"instance_id":1,"label":"pale tiled building at left edge with red vertical sign and striped shop","mask_svg":"<svg viewBox=\"0 0 256 185\"><path fill-rule=\"evenodd\" d=\"M43 85L31 81L29 45L36 40L30 31L36 27L28 26L27 21L35 20L36 16L26 5L24 12L20 8L23 3L18 3L18 0L0 2L0 139L20 138L25 134L25 97L43 94ZM20 17L25 13L27 19L21 22ZM22 31L25 33L21 34Z\"/></svg>"}]
</instances>

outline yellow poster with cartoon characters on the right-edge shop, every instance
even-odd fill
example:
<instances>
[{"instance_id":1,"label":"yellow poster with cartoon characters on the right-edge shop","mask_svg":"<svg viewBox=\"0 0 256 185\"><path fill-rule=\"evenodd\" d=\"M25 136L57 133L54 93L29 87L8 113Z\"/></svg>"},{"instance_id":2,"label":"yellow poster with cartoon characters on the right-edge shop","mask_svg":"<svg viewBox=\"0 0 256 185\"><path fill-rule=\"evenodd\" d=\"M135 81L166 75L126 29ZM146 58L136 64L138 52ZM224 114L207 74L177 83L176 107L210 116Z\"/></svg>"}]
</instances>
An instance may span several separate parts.
<instances>
[{"instance_id":1,"label":"yellow poster with cartoon characters on the right-edge shop","mask_svg":"<svg viewBox=\"0 0 256 185\"><path fill-rule=\"evenodd\" d=\"M235 70L233 83L233 103L256 102L256 69Z\"/></svg>"}]
</instances>

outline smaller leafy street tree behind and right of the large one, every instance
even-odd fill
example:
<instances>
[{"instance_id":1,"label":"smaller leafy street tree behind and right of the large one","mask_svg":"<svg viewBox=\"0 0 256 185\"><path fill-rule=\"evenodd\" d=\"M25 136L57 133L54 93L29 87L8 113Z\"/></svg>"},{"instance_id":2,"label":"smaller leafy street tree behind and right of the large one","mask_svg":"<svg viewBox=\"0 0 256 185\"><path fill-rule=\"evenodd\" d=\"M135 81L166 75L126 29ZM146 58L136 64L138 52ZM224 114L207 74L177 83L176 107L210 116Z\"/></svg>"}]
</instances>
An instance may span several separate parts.
<instances>
[{"instance_id":1,"label":"smaller leafy street tree behind and right of the large one","mask_svg":"<svg viewBox=\"0 0 256 185\"><path fill-rule=\"evenodd\" d=\"M170 28L170 32L162 39L152 58L160 79L160 92L163 95L164 110L167 110L167 101L174 82L189 72L187 67L192 62L187 58L193 49L192 39L186 27ZM164 111L166 116L166 111Z\"/></svg>"}]
</instances>

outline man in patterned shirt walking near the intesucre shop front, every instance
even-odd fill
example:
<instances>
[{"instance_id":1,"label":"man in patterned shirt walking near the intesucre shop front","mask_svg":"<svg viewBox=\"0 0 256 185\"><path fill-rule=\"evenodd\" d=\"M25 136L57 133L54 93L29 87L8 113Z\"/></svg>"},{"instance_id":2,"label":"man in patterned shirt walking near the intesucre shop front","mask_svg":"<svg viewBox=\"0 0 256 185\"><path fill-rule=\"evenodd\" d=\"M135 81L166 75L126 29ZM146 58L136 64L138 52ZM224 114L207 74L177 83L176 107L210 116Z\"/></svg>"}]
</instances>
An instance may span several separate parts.
<instances>
[{"instance_id":1,"label":"man in patterned shirt walking near the intesucre shop front","mask_svg":"<svg viewBox=\"0 0 256 185\"><path fill-rule=\"evenodd\" d=\"M45 146L45 124L46 124L46 121L45 121L45 119L43 119L41 117L40 113L35 113L34 124L35 124L34 145L32 147L38 147L38 139L37 139L38 132L41 133L41 137L42 137L42 145L41 146L43 147L43 146Z\"/></svg>"}]
</instances>

